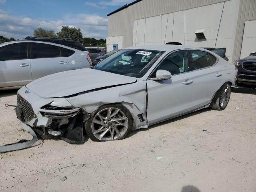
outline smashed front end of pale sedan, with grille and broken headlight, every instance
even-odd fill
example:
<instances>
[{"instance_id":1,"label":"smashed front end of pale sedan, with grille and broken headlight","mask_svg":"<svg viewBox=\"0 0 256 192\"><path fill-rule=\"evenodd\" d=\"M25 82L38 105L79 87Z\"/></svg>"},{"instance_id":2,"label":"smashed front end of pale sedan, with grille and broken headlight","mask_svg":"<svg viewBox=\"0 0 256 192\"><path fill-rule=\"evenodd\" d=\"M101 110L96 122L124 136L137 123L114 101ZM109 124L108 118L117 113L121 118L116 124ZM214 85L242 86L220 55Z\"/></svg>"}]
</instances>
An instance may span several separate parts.
<instances>
[{"instance_id":1,"label":"smashed front end of pale sedan, with grille and broken headlight","mask_svg":"<svg viewBox=\"0 0 256 192\"><path fill-rule=\"evenodd\" d=\"M30 126L39 139L84 142L86 112L65 98L41 98L24 86L17 93L16 115L22 126Z\"/></svg>"}]
</instances>

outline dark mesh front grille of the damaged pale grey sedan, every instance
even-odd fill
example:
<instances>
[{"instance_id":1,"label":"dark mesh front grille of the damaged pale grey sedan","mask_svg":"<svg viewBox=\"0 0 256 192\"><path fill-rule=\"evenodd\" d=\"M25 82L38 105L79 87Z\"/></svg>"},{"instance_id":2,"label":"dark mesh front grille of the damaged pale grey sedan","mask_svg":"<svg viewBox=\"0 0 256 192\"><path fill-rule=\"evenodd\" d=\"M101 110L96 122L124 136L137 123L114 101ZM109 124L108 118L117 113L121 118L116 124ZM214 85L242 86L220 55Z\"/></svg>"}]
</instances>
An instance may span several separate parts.
<instances>
[{"instance_id":1,"label":"dark mesh front grille of the damaged pale grey sedan","mask_svg":"<svg viewBox=\"0 0 256 192\"><path fill-rule=\"evenodd\" d=\"M17 94L17 106L20 108L22 111L22 114L20 116L20 120L24 123L31 121L35 113L32 109L32 106L30 105L29 102L27 102L22 96Z\"/></svg>"}]
</instances>

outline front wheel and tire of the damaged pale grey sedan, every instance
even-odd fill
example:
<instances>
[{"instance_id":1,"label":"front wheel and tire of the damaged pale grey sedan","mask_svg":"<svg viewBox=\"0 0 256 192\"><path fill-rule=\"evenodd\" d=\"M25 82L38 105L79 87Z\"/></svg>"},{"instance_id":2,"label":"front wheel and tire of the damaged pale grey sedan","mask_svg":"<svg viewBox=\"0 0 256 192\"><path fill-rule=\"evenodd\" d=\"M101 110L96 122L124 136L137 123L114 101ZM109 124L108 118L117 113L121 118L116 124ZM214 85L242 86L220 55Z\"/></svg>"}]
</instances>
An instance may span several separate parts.
<instances>
[{"instance_id":1,"label":"front wheel and tire of the damaged pale grey sedan","mask_svg":"<svg viewBox=\"0 0 256 192\"><path fill-rule=\"evenodd\" d=\"M124 106L110 104L98 108L85 122L85 130L93 141L121 140L128 136L132 124L132 115Z\"/></svg>"}]
</instances>

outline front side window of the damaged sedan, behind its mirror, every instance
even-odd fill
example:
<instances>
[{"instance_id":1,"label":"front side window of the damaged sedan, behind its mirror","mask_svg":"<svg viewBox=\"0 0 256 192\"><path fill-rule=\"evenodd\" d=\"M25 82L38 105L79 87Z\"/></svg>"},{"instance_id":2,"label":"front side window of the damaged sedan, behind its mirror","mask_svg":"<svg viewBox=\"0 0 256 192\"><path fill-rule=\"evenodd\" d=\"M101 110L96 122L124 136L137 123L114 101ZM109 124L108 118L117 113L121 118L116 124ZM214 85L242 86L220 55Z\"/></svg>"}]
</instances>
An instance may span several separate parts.
<instances>
[{"instance_id":1,"label":"front side window of the damaged sedan, behind its mirror","mask_svg":"<svg viewBox=\"0 0 256 192\"><path fill-rule=\"evenodd\" d=\"M188 59L186 50L176 51L167 56L158 66L157 70L162 69L171 72L172 75L187 71ZM156 71L157 71L156 70Z\"/></svg>"}]
</instances>

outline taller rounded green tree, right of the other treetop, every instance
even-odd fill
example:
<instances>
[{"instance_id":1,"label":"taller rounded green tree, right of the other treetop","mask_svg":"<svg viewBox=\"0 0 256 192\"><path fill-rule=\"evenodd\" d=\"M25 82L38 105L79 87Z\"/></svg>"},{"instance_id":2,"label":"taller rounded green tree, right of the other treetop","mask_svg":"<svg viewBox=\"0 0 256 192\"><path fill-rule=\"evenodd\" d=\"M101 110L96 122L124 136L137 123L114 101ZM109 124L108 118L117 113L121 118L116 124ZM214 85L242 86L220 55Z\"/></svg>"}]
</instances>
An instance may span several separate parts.
<instances>
[{"instance_id":1,"label":"taller rounded green tree, right of the other treetop","mask_svg":"<svg viewBox=\"0 0 256 192\"><path fill-rule=\"evenodd\" d=\"M80 28L62 26L60 32L57 33L59 38L67 38L72 40L82 40L83 35Z\"/></svg>"}]
</instances>

